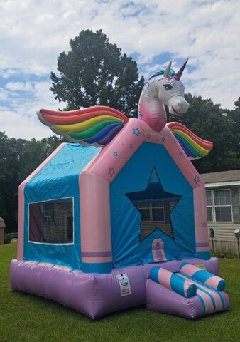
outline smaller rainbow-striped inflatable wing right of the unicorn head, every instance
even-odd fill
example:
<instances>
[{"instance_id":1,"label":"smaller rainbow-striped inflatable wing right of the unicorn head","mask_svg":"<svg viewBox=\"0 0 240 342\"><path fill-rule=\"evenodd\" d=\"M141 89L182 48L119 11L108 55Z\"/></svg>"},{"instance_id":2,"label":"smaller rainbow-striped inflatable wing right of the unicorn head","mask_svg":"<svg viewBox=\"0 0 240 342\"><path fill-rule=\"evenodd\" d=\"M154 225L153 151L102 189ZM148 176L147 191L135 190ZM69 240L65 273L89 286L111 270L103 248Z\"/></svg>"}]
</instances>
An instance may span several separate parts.
<instances>
[{"instance_id":1,"label":"smaller rainbow-striped inflatable wing right of the unicorn head","mask_svg":"<svg viewBox=\"0 0 240 342\"><path fill-rule=\"evenodd\" d=\"M197 137L182 123L167 123L167 126L173 132L190 160L205 157L212 150L212 142Z\"/></svg>"}]
</instances>

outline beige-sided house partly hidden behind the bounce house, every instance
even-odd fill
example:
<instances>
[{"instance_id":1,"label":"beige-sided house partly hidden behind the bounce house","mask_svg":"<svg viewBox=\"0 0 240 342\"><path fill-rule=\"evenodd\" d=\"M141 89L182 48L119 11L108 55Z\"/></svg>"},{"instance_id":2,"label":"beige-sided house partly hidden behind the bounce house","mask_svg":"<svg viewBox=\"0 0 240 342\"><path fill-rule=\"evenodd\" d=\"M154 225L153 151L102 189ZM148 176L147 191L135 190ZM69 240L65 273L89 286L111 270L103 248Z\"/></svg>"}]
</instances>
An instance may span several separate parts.
<instances>
[{"instance_id":1,"label":"beige-sided house partly hidden behind the bounce house","mask_svg":"<svg viewBox=\"0 0 240 342\"><path fill-rule=\"evenodd\" d=\"M214 229L214 249L237 254L234 230L240 229L240 170L204 173L202 178L207 197L208 228Z\"/></svg>"}]
</instances>

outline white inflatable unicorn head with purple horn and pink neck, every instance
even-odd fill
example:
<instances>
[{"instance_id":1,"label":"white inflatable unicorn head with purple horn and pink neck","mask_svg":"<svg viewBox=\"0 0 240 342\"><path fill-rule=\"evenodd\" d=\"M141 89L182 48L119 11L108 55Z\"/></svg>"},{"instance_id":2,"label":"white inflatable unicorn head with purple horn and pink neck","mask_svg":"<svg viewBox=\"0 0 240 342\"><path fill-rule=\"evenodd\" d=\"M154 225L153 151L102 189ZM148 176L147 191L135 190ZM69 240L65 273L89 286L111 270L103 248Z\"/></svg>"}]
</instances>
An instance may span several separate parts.
<instances>
[{"instance_id":1,"label":"white inflatable unicorn head with purple horn and pink neck","mask_svg":"<svg viewBox=\"0 0 240 342\"><path fill-rule=\"evenodd\" d=\"M138 104L138 118L145 121L153 130L160 132L167 123L164 105L169 113L185 114L189 103L184 98L184 86L180 81L187 61L177 73L171 69L171 62L165 71L154 73L144 86Z\"/></svg>"}]
</instances>

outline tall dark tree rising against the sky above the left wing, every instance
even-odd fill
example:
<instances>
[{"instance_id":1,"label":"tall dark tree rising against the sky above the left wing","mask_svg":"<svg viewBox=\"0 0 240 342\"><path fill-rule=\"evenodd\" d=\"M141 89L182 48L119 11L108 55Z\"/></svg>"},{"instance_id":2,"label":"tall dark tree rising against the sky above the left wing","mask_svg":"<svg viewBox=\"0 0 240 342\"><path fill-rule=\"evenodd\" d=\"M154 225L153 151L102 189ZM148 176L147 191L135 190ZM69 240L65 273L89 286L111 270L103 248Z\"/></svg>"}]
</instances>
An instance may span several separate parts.
<instances>
[{"instance_id":1,"label":"tall dark tree rising against the sky above the left wing","mask_svg":"<svg viewBox=\"0 0 240 342\"><path fill-rule=\"evenodd\" d=\"M121 54L102 32L86 30L70 40L71 50L58 57L60 77L51 72L50 90L67 102L65 110L108 105L127 116L137 115L144 79L138 81L137 64Z\"/></svg>"}]
</instances>

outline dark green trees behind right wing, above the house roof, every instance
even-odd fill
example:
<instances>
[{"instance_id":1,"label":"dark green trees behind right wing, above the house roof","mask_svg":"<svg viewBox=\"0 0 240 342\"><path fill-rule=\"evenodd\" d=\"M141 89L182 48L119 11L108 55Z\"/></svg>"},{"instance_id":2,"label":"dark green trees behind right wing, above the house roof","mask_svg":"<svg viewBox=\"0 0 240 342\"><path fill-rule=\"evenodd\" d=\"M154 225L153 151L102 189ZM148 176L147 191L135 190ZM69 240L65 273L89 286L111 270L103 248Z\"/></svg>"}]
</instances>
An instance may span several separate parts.
<instances>
[{"instance_id":1,"label":"dark green trees behind right wing, above the house roof","mask_svg":"<svg viewBox=\"0 0 240 342\"><path fill-rule=\"evenodd\" d=\"M181 122L200 138L214 144L207 157L193 161L197 170L204 173L240 169L239 148L236 147L234 122L229 111L201 96L187 94L185 98L190 103L187 113L180 118L169 115L169 119Z\"/></svg>"}]
</instances>

